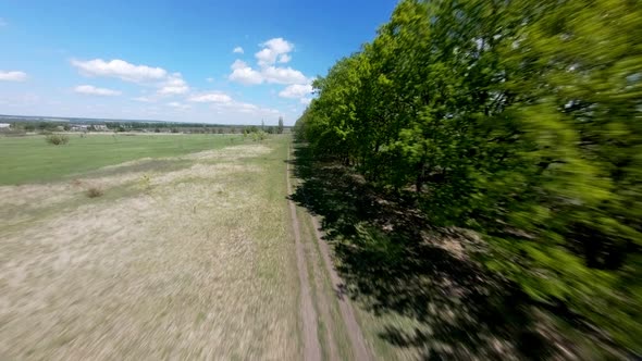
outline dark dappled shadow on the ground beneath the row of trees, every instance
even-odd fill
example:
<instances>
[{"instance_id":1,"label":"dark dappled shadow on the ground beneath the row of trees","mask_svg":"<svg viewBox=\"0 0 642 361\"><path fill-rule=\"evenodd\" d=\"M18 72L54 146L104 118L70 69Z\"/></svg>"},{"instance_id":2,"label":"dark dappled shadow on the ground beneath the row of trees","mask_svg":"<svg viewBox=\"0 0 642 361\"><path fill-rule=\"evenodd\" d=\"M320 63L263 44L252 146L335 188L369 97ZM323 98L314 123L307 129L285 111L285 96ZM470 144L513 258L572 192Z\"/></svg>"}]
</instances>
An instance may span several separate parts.
<instances>
[{"instance_id":1,"label":"dark dappled shadow on the ground beneath the row of trees","mask_svg":"<svg viewBox=\"0 0 642 361\"><path fill-rule=\"evenodd\" d=\"M431 227L408 202L382 196L336 163L312 160L305 146L295 153L301 184L292 199L323 217L345 282L335 286L369 312L417 325L386 325L379 337L425 360L552 356L526 297L468 257L481 247L472 235Z\"/></svg>"}]
</instances>

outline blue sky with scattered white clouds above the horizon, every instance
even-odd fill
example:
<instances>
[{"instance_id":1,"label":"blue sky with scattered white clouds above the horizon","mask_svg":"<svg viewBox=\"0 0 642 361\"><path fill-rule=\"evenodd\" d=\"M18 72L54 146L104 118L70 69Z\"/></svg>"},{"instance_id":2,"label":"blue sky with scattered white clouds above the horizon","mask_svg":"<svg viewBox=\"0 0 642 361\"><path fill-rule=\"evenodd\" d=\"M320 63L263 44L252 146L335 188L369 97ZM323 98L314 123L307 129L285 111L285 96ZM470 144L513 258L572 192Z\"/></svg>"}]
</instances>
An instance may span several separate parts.
<instances>
[{"instance_id":1,"label":"blue sky with scattered white clouds above the horizon","mask_svg":"<svg viewBox=\"0 0 642 361\"><path fill-rule=\"evenodd\" d=\"M0 114L292 125L394 0L0 0Z\"/></svg>"}]
</instances>

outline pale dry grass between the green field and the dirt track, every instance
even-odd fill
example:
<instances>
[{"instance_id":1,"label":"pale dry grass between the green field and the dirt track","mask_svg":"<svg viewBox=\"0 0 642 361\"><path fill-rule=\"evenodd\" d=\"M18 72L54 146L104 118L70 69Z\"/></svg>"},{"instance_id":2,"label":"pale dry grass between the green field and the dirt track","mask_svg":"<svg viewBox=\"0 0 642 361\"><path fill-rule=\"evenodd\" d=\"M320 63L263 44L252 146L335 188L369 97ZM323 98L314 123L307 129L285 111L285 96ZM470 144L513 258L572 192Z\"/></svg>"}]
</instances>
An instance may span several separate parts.
<instances>
[{"instance_id":1,"label":"pale dry grass between the green field and the dirt track","mask_svg":"<svg viewBox=\"0 0 642 361\"><path fill-rule=\"evenodd\" d=\"M79 207L84 179L0 187L0 208L29 189L61 210L0 219L0 359L299 359L284 147L200 153L150 191L91 179L138 190Z\"/></svg>"}]
</instances>

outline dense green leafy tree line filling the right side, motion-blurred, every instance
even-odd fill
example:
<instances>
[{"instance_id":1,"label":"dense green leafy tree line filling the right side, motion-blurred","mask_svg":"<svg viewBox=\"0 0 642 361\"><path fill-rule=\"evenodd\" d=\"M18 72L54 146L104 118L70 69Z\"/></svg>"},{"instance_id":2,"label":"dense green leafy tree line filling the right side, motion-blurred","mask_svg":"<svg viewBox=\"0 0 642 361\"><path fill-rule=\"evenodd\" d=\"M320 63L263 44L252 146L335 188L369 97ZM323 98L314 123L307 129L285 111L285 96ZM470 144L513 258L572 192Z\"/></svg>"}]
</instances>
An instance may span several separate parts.
<instances>
[{"instance_id":1,"label":"dense green leafy tree line filling the right side, motion-blurred","mask_svg":"<svg viewBox=\"0 0 642 361\"><path fill-rule=\"evenodd\" d=\"M403 0L296 135L642 352L641 39L634 0Z\"/></svg>"}]
</instances>

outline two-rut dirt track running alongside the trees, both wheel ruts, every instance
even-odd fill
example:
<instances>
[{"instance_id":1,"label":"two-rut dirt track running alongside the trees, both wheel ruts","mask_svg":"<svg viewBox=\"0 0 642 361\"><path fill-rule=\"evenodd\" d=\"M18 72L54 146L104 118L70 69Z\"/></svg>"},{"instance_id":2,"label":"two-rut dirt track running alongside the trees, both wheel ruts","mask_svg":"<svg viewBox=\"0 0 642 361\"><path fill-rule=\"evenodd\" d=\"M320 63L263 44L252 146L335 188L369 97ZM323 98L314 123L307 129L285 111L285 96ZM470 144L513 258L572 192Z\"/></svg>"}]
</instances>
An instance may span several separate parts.
<instances>
[{"instance_id":1,"label":"two-rut dirt track running alongside the trees, both wheel ruts","mask_svg":"<svg viewBox=\"0 0 642 361\"><path fill-rule=\"evenodd\" d=\"M291 179L289 179L289 149L288 149L288 154L287 154L287 188L288 188L288 192L292 194L292 186L291 186ZM309 295L309 283L308 283L308 271L307 271L307 266L306 266L306 260L305 260L305 248L304 245L300 240L300 225L296 215L296 207L294 204L294 202L292 200L289 200L289 208L291 208L291 212L292 212L292 220L293 220L293 226L294 226L294 232L295 232L295 238L296 238L296 245L297 245L297 263L298 263L298 269L299 269L299 278L301 279L301 295L307 292ZM330 276L330 282L332 284L332 288L335 292L335 295L337 295L338 298L338 307L341 310L341 315L342 315L342 320L345 324L345 328L346 332L348 334L349 340L350 340L350 345L351 345L351 349L354 352L354 357L355 360L372 360L372 356L369 351L369 348L366 344L366 340L363 339L363 335L361 333L361 327L359 326L359 324L357 323L357 319L355 316L355 311L353 310L353 307L349 302L349 299L346 297L346 295L344 294L341 285L343 285L343 281L341 279L341 277L338 276L338 274L336 273L336 270L334 269L334 266L332 265L332 260L330 258L330 249L328 247L328 244L322 239L322 235L319 226L319 223L317 222L317 219L314 219L312 215L309 215L312 222L312 227L314 228L314 235L313 238L316 239L316 241L318 242L319 246L319 250L321 252L321 258L323 259L323 263L325 265L325 272L328 272L326 275ZM300 257L299 257L300 254ZM322 279L322 275L321 275L321 270L319 270L317 267L317 264L314 261L313 262L313 272L316 273L316 282L319 283L320 279ZM305 283L304 283L305 279ZM318 284L317 284L318 285ZM304 289L305 288L305 289ZM317 289L322 289L321 287L317 287ZM311 315L314 318L313 319L313 324L314 324L314 329L317 329L317 319L316 319L316 314L313 313L313 307L310 303L309 306L306 304L306 299L304 297L301 297L301 313L304 314L304 326L306 325L306 322L309 322L309 320L306 320L307 316L307 310L306 308L310 307L312 308L312 313ZM330 316L330 312L328 311L328 299L325 298L325 295L319 295L319 306L321 308L321 312L322 312L322 316L323 316L323 322L328 325L329 323L332 323L332 319ZM310 300L311 302L311 300ZM309 315L309 313L308 313ZM335 345L334 345L334 336L332 335L332 327L326 327L326 332L328 332L328 339L329 339L329 348L330 348L330 359L335 359L336 358L336 350L335 350ZM308 339L308 333L307 329L306 331L306 339ZM317 336L317 332L314 331L314 335ZM317 347L319 347L319 343L318 343L318 338L317 338L317 343L314 344ZM308 349L308 345L305 346L306 350ZM308 354L306 353L306 360L312 360L311 358L308 358Z\"/></svg>"}]
</instances>

